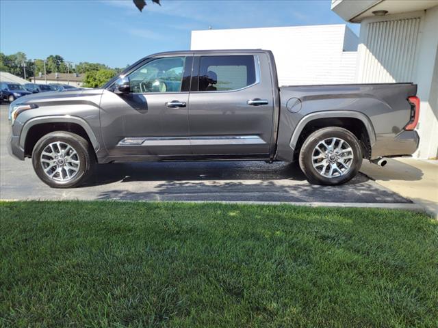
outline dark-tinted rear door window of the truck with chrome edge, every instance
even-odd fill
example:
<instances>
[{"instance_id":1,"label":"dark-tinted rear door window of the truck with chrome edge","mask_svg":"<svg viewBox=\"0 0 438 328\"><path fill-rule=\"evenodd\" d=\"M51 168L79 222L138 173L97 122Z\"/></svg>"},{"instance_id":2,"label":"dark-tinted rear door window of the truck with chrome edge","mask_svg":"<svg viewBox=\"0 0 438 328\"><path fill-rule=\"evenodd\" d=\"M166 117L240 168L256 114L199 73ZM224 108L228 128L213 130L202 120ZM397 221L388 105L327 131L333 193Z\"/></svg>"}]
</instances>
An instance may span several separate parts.
<instances>
[{"instance_id":1,"label":"dark-tinted rear door window of the truck with chrome edge","mask_svg":"<svg viewBox=\"0 0 438 328\"><path fill-rule=\"evenodd\" d=\"M254 56L203 56L199 65L199 91L229 91L255 83Z\"/></svg>"}]
</instances>

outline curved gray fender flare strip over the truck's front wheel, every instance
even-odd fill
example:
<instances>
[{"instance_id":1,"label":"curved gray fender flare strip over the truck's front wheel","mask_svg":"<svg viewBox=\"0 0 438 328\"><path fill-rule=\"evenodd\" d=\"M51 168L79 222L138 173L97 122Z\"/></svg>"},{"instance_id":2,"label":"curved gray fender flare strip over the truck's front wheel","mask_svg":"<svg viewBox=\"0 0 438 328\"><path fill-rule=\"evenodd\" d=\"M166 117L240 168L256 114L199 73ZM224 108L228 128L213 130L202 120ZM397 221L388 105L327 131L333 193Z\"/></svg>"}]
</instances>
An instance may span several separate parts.
<instances>
[{"instance_id":1,"label":"curved gray fender flare strip over the truck's front wheel","mask_svg":"<svg viewBox=\"0 0 438 328\"><path fill-rule=\"evenodd\" d=\"M78 124L85 130L88 137L90 138L90 141L92 143L92 146L94 148L94 151L98 151L100 148L99 141L97 141L96 136L94 135L94 132L92 131L92 128L88 123L83 120L82 118L78 118L77 116L71 116L71 115L53 115L53 116L41 116L39 118L31 118L28 120L25 125L23 126L23 129L21 130L20 134L20 147L25 148L25 140L27 133L29 132L29 129L32 126L35 126L37 124L44 124L44 123L74 123Z\"/></svg>"}]
</instances>

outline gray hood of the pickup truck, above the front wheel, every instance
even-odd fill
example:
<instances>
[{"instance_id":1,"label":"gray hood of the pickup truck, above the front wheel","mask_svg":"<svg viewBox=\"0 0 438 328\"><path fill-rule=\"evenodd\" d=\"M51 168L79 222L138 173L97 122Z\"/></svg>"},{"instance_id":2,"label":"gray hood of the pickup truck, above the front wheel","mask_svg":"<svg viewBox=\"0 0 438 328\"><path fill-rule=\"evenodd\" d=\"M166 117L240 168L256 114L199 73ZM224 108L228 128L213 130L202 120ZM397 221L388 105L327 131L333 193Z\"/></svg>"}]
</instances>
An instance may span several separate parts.
<instances>
[{"instance_id":1,"label":"gray hood of the pickup truck, above the front wheel","mask_svg":"<svg viewBox=\"0 0 438 328\"><path fill-rule=\"evenodd\" d=\"M83 98L88 98L90 96L96 96L102 94L103 89L91 89L91 90L73 90L73 91L65 91L65 92L39 92L38 94L28 94L21 98L18 98L12 105L21 105L21 104L36 104L36 105L44 105L45 102L53 103L53 102L64 102L68 101L70 103L74 103L75 100L83 100Z\"/></svg>"}]
</instances>

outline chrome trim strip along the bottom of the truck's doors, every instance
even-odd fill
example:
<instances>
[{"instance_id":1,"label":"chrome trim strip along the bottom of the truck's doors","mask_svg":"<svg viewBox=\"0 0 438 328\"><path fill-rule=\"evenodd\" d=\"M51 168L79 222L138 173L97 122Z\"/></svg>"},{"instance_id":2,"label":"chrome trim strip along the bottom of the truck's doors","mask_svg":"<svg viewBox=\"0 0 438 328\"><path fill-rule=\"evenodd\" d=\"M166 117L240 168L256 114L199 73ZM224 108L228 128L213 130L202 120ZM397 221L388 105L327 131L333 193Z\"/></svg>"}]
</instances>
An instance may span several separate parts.
<instances>
[{"instance_id":1,"label":"chrome trim strip along the bottom of the truck's doors","mask_svg":"<svg viewBox=\"0 0 438 328\"><path fill-rule=\"evenodd\" d=\"M117 146L213 146L257 145L266 143L258 135L224 135L220 137L127 137Z\"/></svg>"}]
</instances>

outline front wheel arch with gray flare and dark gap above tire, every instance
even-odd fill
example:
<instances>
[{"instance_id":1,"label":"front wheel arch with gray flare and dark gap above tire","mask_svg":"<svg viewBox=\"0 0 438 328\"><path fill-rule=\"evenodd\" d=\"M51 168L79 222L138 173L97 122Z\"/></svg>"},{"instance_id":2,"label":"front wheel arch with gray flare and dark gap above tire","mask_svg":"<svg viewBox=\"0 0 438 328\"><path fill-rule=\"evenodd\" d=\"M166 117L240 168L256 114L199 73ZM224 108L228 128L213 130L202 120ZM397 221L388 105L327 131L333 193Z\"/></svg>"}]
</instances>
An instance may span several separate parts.
<instances>
[{"instance_id":1,"label":"front wheel arch with gray flare and dark gap above tire","mask_svg":"<svg viewBox=\"0 0 438 328\"><path fill-rule=\"evenodd\" d=\"M25 156L31 156L31 152L40 137L53 131L68 131L81 135L90 142L95 154L100 148L92 128L82 118L70 115L44 116L28 120L21 130L19 144L25 151Z\"/></svg>"}]
</instances>

